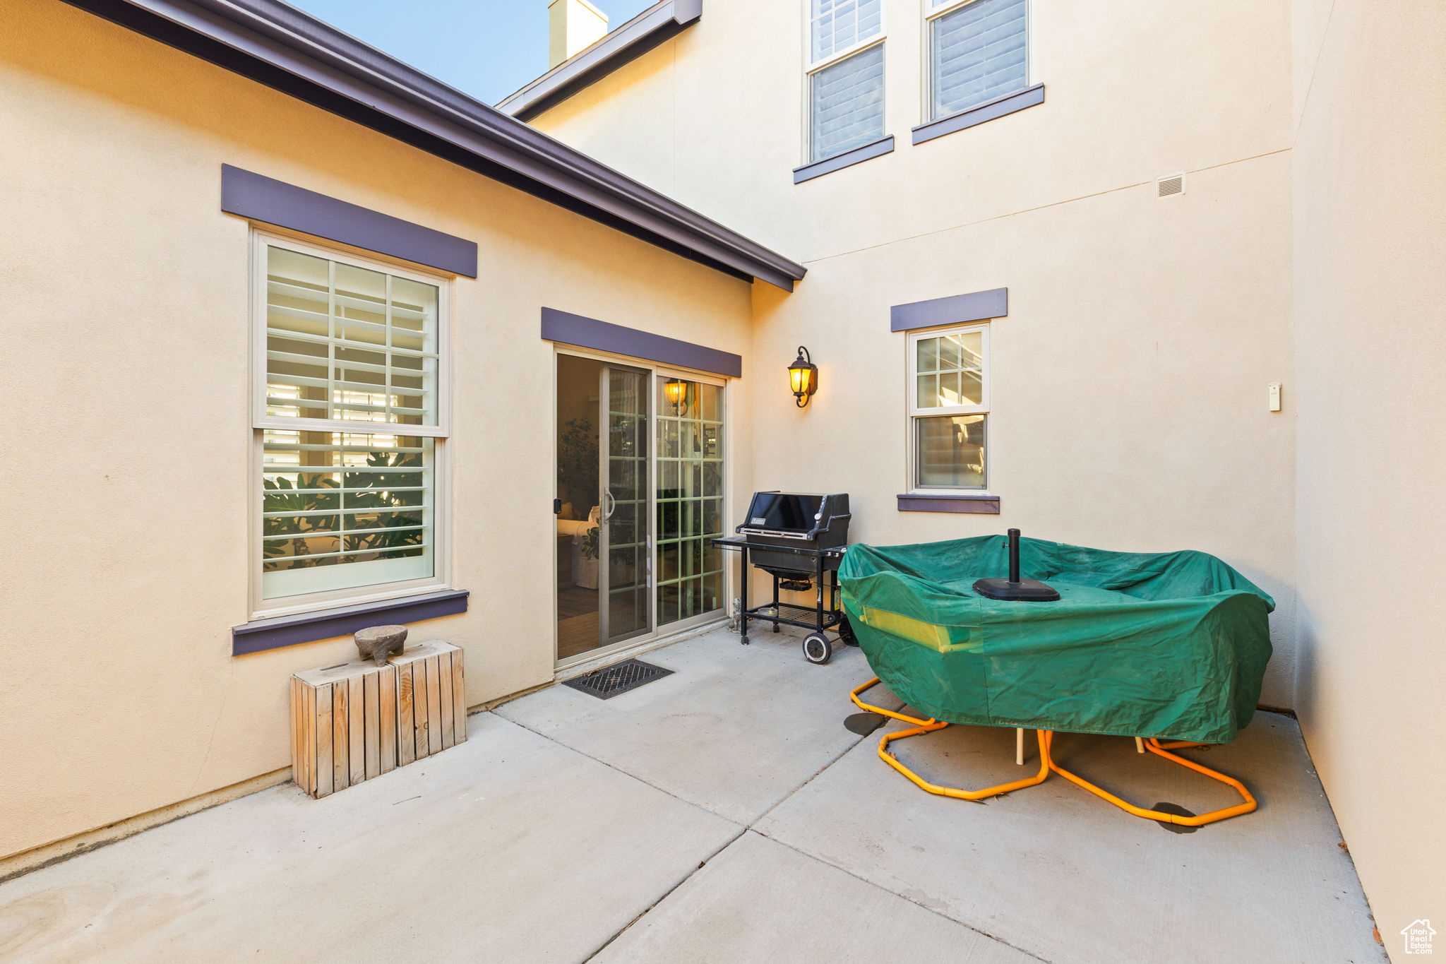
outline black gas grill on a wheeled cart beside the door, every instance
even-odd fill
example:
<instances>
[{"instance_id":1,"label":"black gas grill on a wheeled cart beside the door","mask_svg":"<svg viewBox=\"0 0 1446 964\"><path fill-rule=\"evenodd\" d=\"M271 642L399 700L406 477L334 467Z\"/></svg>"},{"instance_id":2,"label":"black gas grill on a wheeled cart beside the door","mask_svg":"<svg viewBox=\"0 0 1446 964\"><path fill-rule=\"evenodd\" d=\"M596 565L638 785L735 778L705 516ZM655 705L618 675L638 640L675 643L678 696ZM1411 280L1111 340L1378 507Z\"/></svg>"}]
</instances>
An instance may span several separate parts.
<instances>
[{"instance_id":1,"label":"black gas grill on a wheeled cart beside the door","mask_svg":"<svg viewBox=\"0 0 1446 964\"><path fill-rule=\"evenodd\" d=\"M839 561L849 543L849 496L820 493L759 491L748 506L736 536L714 539L724 549L739 554L739 637L748 645L750 620L813 630L804 637L804 658L826 663L833 643L824 630L853 646L853 630L839 608ZM749 565L774 577L771 603L749 608ZM779 591L814 593L814 604L782 603ZM827 606L824 597L827 594Z\"/></svg>"}]
</instances>

